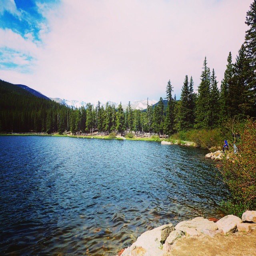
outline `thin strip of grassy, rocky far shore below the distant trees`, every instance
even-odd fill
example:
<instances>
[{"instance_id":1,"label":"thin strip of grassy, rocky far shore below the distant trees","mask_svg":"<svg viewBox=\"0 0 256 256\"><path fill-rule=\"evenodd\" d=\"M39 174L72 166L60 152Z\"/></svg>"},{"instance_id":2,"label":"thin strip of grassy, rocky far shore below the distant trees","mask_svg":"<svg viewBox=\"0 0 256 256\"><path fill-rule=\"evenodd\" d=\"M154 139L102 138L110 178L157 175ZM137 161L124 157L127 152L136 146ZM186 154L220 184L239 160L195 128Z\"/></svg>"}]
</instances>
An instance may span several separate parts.
<instances>
[{"instance_id":1,"label":"thin strip of grassy, rocky far shore below the distant trees","mask_svg":"<svg viewBox=\"0 0 256 256\"><path fill-rule=\"evenodd\" d=\"M162 142L161 144L165 145L180 145L180 146L190 146L197 147L194 142L184 141L184 140L170 140L166 138L160 138L158 136L150 136L150 137L134 137L127 138L116 136L112 138L108 135L72 135L72 134L39 134L39 133L12 133L12 134L0 134L0 136L55 136L55 137L71 137L71 138L87 138L87 139L104 139L104 140L142 140L142 141L154 141L154 142Z\"/></svg>"}]
</instances>

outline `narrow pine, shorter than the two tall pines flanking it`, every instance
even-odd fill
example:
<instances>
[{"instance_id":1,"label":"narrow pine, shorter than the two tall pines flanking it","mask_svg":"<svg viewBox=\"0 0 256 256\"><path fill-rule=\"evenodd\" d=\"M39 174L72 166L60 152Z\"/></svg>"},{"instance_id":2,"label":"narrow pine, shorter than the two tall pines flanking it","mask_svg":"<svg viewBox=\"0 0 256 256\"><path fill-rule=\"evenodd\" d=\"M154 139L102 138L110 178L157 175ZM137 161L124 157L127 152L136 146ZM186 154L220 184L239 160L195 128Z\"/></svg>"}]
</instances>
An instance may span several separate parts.
<instances>
[{"instance_id":1,"label":"narrow pine, shorter than the two tall pines flanking it","mask_svg":"<svg viewBox=\"0 0 256 256\"><path fill-rule=\"evenodd\" d=\"M212 70L210 78L210 127L217 127L220 121L220 90L216 80L215 71Z\"/></svg>"}]
</instances>

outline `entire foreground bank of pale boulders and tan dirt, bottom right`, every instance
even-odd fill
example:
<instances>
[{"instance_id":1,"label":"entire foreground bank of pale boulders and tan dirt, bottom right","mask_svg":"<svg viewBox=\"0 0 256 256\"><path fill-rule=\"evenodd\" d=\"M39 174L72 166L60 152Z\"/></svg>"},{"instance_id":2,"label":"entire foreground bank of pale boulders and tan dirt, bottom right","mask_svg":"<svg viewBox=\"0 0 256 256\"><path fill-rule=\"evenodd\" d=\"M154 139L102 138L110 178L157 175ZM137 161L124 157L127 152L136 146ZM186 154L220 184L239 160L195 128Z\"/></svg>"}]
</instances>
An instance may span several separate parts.
<instances>
[{"instance_id":1,"label":"entire foreground bank of pale boulders and tan dirt, bottom right","mask_svg":"<svg viewBox=\"0 0 256 256\"><path fill-rule=\"evenodd\" d=\"M255 238L256 211L246 211L242 218L196 217L148 230L116 256L255 255Z\"/></svg>"}]
</instances>

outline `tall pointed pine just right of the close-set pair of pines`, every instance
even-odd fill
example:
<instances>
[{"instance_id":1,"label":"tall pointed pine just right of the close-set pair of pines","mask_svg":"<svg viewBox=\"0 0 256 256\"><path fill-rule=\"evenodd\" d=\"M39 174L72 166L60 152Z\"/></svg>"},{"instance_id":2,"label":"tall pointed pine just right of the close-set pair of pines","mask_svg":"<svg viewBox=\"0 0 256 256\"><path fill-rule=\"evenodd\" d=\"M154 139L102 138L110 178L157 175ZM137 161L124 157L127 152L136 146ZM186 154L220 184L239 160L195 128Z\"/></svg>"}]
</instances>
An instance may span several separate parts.
<instances>
[{"instance_id":1,"label":"tall pointed pine just right of the close-set pair of pines","mask_svg":"<svg viewBox=\"0 0 256 256\"><path fill-rule=\"evenodd\" d=\"M195 128L207 128L209 125L209 101L210 101L210 69L207 67L206 57L201 74L201 82L198 86L198 98L196 101Z\"/></svg>"}]
</instances>

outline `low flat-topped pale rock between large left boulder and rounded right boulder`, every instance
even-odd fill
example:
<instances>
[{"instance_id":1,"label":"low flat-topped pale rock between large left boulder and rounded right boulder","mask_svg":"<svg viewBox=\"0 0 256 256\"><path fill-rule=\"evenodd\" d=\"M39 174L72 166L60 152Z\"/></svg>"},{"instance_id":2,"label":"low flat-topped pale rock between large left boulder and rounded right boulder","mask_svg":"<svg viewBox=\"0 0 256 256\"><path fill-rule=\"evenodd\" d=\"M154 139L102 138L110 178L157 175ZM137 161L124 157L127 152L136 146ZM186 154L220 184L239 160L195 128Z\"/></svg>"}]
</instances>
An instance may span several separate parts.
<instances>
[{"instance_id":1,"label":"low flat-topped pale rock between large left boulder and rounded right boulder","mask_svg":"<svg viewBox=\"0 0 256 256\"><path fill-rule=\"evenodd\" d=\"M201 232L204 229L208 229L208 230L218 229L217 225L213 221L204 219L203 217L196 217L192 220L182 221L175 226L175 229L180 230L181 227L194 228L199 232Z\"/></svg>"}]
</instances>

